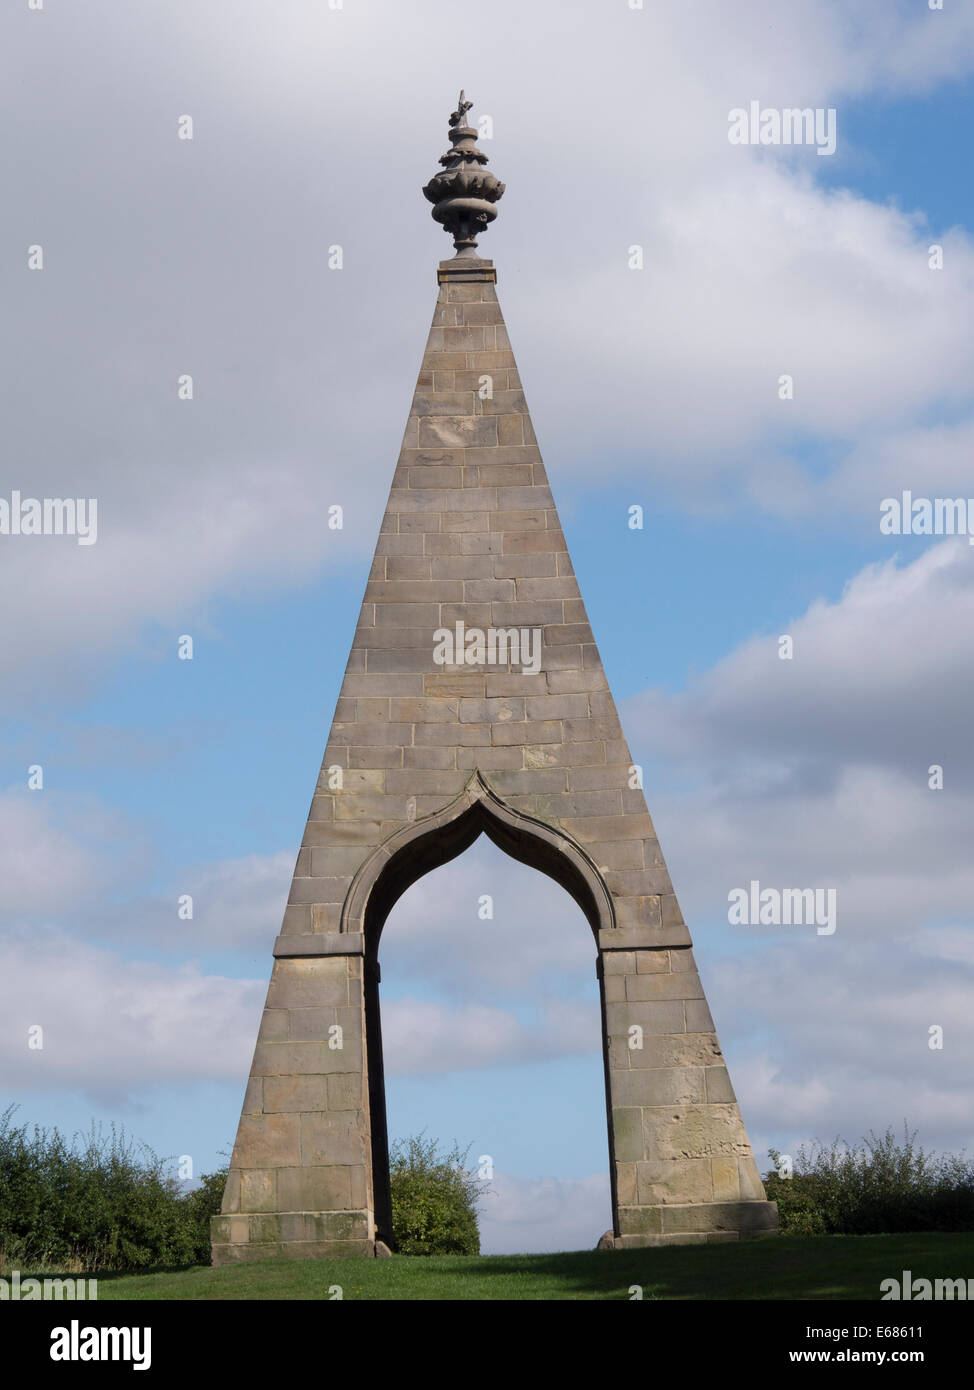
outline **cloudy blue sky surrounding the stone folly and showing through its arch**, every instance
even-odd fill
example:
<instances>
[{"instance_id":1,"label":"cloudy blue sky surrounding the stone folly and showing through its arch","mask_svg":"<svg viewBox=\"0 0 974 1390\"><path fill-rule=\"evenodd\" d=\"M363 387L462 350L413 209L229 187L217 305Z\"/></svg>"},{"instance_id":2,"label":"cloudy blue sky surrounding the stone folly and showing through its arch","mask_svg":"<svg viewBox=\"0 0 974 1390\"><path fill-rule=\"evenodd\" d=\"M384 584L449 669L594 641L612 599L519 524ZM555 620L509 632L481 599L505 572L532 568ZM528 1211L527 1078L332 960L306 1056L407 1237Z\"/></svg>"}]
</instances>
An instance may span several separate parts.
<instances>
[{"instance_id":1,"label":"cloudy blue sky surrounding the stone folly and showing through its arch","mask_svg":"<svg viewBox=\"0 0 974 1390\"><path fill-rule=\"evenodd\" d=\"M402 63L378 0L349 0L345 31L297 0L246 8L250 25L224 3L165 36L154 0L118 21L99 0L1 21L22 125L0 260L24 348L0 496L100 505L90 552L0 537L4 1093L24 1119L124 1123L197 1170L232 1143L445 254L418 189L461 68L509 182L484 249L759 1162L905 1113L931 1143L970 1144L974 553L878 531L902 486L974 495L970 18L878 0L604 21L539 4L518 19L538 38L554 11L577 21L554 40L552 152L529 35L517 56L503 43L507 3L488 35L447 7L453 49L443 6L418 6ZM65 83L82 39L94 71ZM579 89L571 64L593 42ZM142 85L121 61L133 44ZM382 78L367 99L365 61ZM725 146L721 113L752 97L834 106L836 154ZM193 149L165 143L190 108ZM375 160L385 221L361 196ZM346 268L329 277L332 240ZM22 270L32 242L42 286ZM946 282L930 306L920 257ZM171 389L188 360L189 417ZM789 370L785 414L768 402ZM774 694L761 662L789 631L816 666ZM928 763L946 769L939 801ZM731 930L732 887L802 873L839 884L828 945ZM482 891L503 930L477 922ZM435 1016L470 1036L452 1069L403 1047L392 1131L492 1154L492 1248L595 1243L604 1098L578 909L484 842L407 898L383 1002L406 1033ZM434 917L452 935L431 977ZM518 929L564 938L564 958L506 976ZM506 1051L478 1051L478 1009L513 1020ZM941 1015L945 1058L914 1048ZM51 1044L25 1056L25 1022L49 1017Z\"/></svg>"}]
</instances>

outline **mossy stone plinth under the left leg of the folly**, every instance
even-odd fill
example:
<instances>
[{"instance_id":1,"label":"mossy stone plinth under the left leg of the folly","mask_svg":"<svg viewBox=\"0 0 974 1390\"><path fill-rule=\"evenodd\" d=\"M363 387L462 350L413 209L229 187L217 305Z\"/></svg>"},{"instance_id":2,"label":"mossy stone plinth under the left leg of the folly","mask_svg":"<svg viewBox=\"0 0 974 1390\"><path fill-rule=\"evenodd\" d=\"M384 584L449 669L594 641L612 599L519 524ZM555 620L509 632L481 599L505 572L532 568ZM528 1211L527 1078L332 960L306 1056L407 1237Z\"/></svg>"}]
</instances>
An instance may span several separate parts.
<instances>
[{"instance_id":1,"label":"mossy stone plinth under the left leg of the folly","mask_svg":"<svg viewBox=\"0 0 974 1390\"><path fill-rule=\"evenodd\" d=\"M267 1212L213 1216L214 1265L254 1259L349 1259L375 1255L368 1212Z\"/></svg>"}]
</instances>

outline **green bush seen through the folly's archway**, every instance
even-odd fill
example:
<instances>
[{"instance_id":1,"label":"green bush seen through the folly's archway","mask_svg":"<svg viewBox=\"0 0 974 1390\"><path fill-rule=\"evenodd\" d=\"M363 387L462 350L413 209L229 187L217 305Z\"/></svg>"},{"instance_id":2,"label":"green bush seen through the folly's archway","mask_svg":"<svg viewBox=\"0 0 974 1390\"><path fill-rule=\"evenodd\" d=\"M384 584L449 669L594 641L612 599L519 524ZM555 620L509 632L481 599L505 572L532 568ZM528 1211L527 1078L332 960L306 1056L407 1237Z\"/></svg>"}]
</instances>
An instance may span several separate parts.
<instances>
[{"instance_id":1,"label":"green bush seen through the folly's archway","mask_svg":"<svg viewBox=\"0 0 974 1390\"><path fill-rule=\"evenodd\" d=\"M438 1154L422 1134L397 1140L389 1159L392 1238L400 1255L479 1255L477 1202L484 1184L453 1145Z\"/></svg>"}]
</instances>

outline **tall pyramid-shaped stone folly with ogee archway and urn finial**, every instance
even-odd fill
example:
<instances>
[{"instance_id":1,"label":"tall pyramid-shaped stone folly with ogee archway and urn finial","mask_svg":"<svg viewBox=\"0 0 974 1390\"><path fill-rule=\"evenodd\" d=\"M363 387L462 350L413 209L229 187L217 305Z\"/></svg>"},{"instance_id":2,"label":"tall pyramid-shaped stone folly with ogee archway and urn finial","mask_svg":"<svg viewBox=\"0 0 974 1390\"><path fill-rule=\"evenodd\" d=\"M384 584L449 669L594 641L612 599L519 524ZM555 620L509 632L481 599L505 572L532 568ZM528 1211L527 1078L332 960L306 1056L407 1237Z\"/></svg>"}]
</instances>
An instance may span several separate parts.
<instances>
[{"instance_id":1,"label":"tall pyramid-shaped stone folly with ogee archway and urn finial","mask_svg":"<svg viewBox=\"0 0 974 1390\"><path fill-rule=\"evenodd\" d=\"M393 1244L379 935L402 892L481 833L563 884L592 926L613 1205L600 1244L777 1226L575 582L493 263L477 254L503 185L468 107L461 93L424 189L457 256L439 267L274 947L215 1264Z\"/></svg>"}]
</instances>

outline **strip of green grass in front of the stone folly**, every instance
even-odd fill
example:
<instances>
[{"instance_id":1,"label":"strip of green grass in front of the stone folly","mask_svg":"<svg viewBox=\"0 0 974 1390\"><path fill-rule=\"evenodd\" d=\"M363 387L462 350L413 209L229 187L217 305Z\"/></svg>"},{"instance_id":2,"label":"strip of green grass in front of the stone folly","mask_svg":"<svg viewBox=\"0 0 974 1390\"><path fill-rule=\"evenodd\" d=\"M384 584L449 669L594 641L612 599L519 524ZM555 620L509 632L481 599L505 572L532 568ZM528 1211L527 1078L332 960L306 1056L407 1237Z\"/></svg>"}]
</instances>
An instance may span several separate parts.
<instances>
[{"instance_id":1,"label":"strip of green grass in front of the stone folly","mask_svg":"<svg viewBox=\"0 0 974 1390\"><path fill-rule=\"evenodd\" d=\"M628 1300L880 1298L880 1282L974 1277L974 1233L917 1236L778 1236L718 1245L563 1255L308 1259L195 1266L151 1275L103 1275L99 1301L346 1300Z\"/></svg>"}]
</instances>

